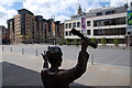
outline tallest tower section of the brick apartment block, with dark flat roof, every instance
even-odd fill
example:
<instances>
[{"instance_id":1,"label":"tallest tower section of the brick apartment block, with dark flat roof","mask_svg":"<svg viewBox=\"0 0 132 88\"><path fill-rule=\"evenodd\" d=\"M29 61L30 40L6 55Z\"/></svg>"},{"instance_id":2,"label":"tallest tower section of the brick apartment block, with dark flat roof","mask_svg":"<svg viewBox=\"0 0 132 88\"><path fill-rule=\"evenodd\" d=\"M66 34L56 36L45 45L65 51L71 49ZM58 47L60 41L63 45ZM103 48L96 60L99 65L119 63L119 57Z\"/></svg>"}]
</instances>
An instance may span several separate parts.
<instances>
[{"instance_id":1,"label":"tallest tower section of the brick apartment block, with dark flat roof","mask_svg":"<svg viewBox=\"0 0 132 88\"><path fill-rule=\"evenodd\" d=\"M18 10L14 16L15 43L33 43L35 16L26 9Z\"/></svg>"}]
</instances>

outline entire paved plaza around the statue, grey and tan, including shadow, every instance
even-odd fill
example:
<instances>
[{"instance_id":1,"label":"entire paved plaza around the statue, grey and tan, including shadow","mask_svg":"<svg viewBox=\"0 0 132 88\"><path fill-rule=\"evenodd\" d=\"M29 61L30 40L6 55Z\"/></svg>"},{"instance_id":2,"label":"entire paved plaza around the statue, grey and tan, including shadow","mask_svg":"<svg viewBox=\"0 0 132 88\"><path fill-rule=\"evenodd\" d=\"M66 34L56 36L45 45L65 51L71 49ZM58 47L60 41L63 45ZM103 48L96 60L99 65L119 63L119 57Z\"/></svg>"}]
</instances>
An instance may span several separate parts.
<instances>
[{"instance_id":1,"label":"entire paved plaza around the statue, grey and tan, including shadow","mask_svg":"<svg viewBox=\"0 0 132 88\"><path fill-rule=\"evenodd\" d=\"M41 53L48 45L3 45L2 85L42 86L40 72L43 66ZM61 46L63 65L72 68L76 65L80 46ZM130 48L99 47L88 48L90 54L86 73L72 85L84 86L130 86ZM94 59L94 65L91 65ZM1 65L1 64L0 64ZM13 81L12 81L13 80Z\"/></svg>"}]
</instances>

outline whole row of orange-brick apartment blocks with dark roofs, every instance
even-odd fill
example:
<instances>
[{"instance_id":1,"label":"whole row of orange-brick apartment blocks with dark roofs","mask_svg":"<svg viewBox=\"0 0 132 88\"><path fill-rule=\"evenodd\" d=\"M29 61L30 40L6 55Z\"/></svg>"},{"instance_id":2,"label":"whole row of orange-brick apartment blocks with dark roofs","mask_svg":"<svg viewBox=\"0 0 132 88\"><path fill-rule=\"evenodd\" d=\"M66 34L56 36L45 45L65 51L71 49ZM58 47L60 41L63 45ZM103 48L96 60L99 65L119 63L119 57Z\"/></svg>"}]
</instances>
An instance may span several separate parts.
<instances>
[{"instance_id":1,"label":"whole row of orange-brick apartment blocks with dark roofs","mask_svg":"<svg viewBox=\"0 0 132 88\"><path fill-rule=\"evenodd\" d=\"M59 21L45 20L42 15L34 15L26 9L18 10L18 14L7 23L11 44L50 43L64 35L61 34L64 26Z\"/></svg>"}]
</instances>

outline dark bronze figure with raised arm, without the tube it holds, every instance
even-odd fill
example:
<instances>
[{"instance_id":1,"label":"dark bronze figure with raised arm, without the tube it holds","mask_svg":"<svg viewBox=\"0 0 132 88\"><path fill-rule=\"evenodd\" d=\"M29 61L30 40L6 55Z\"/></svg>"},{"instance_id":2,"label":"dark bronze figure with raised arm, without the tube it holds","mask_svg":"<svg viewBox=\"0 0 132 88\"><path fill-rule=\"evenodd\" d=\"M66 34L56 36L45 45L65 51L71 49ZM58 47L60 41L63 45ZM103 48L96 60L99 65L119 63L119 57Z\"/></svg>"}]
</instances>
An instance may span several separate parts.
<instances>
[{"instance_id":1,"label":"dark bronze figure with raised arm, without the tube it holds","mask_svg":"<svg viewBox=\"0 0 132 88\"><path fill-rule=\"evenodd\" d=\"M62 65L62 50L58 46L48 47L44 58L44 69L41 72L44 88L69 88L69 84L79 78L87 68L89 54L86 52L88 47L87 38L81 42L81 51L78 55L78 63L70 69L58 69ZM51 68L48 68L48 63Z\"/></svg>"}]
</instances>

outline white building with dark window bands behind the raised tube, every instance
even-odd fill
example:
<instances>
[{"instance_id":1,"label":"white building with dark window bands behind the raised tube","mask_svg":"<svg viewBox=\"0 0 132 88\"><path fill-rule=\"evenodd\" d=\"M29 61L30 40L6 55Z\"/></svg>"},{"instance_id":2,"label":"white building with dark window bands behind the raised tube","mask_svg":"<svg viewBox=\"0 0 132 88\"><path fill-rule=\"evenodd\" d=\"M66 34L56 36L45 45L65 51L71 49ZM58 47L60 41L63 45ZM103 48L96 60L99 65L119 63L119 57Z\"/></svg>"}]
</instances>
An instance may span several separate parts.
<instances>
[{"instance_id":1,"label":"white building with dark window bands behind the raised tube","mask_svg":"<svg viewBox=\"0 0 132 88\"><path fill-rule=\"evenodd\" d=\"M78 13L65 21L65 38L79 38L70 33L72 28L81 32L81 18L86 18L86 33L89 38L96 37L99 43L102 37L107 38L107 44L113 45L114 38L120 38L120 44L125 45L127 34L127 8L102 8L90 10L84 13L79 7Z\"/></svg>"}]
</instances>

